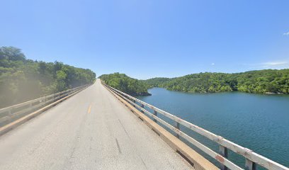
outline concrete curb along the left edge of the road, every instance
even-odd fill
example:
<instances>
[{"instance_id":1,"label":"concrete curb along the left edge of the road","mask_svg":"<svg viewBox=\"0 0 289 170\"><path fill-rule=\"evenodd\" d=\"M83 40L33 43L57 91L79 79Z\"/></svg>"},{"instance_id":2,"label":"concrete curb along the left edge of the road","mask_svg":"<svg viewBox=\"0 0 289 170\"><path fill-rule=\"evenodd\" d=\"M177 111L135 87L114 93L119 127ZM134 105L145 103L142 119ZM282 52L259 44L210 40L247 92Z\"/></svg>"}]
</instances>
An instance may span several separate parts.
<instances>
[{"instance_id":1,"label":"concrete curb along the left edge of the road","mask_svg":"<svg viewBox=\"0 0 289 170\"><path fill-rule=\"evenodd\" d=\"M89 86L85 87L84 89L88 88ZM74 96L75 94L78 94L80 91L83 91L84 89L80 89L79 91L74 92L73 94L70 94L69 96L66 96L64 98L60 98L60 100L55 101L43 108L40 108L38 111L35 111L33 113L30 113L28 115L23 116L22 118L19 118L7 125L4 125L0 128L0 136L4 135L6 132L9 132L10 130L13 130L17 128L19 125L22 125L23 123L26 123L28 120L35 118L37 115L40 115L41 113L47 111L48 109L56 106L57 104L61 103L62 101L65 101L67 98L70 98Z\"/></svg>"}]
</instances>

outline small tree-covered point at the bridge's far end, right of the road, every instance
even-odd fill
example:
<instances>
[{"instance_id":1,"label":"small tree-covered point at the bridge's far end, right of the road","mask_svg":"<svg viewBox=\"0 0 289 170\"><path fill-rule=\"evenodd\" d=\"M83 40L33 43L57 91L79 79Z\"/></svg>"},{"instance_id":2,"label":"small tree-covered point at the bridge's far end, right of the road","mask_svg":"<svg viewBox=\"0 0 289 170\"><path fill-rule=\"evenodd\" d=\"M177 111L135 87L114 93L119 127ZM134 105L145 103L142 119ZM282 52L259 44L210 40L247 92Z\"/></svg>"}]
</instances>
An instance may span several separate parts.
<instances>
[{"instance_id":1,"label":"small tree-covered point at the bridge's far end, right of the road","mask_svg":"<svg viewBox=\"0 0 289 170\"><path fill-rule=\"evenodd\" d=\"M125 74L103 74L99 78L103 80L108 86L123 91L126 94L130 94L132 96L150 95L147 92L147 89L149 88L147 84L140 80L132 79Z\"/></svg>"}]
</instances>

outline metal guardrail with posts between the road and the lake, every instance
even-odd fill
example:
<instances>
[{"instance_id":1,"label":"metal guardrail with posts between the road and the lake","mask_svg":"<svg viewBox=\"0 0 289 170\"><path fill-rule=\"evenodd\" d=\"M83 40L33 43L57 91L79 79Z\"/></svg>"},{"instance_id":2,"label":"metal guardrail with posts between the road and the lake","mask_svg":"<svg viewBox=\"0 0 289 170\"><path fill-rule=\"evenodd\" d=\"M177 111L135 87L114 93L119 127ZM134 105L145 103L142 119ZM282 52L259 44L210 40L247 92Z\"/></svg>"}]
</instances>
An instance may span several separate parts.
<instances>
[{"instance_id":1,"label":"metal guardrail with posts between the road and the lake","mask_svg":"<svg viewBox=\"0 0 289 170\"><path fill-rule=\"evenodd\" d=\"M122 91L119 91L117 89L114 89L111 86L108 86L106 84L103 84L103 85L108 87L108 89L111 89L111 91L114 91L115 94L118 94L118 96L125 99L125 101L128 101L130 104L132 104L132 106L139 108L142 113L147 113L149 116L152 116L155 122L162 123L162 125L166 126L166 128L169 128L170 130L175 132L176 137L183 137L183 139L187 140L188 142L191 142L191 144L198 147L198 149L205 152L205 154L208 154L210 157L217 160L217 162L220 162L221 169L224 169L224 170L225 169L232 169L232 170L242 169L241 167L237 166L233 162L229 161L229 159L227 159L228 149L230 149L232 152L235 152L246 159L246 162L245 162L246 170L255 170L256 164L258 164L259 166L263 166L264 168L270 169L270 170L289 170L288 167L278 164L277 162L273 162L271 159L263 157L260 154L257 154L251 151L250 149L247 149L246 147L242 147L240 145L235 144L234 142L226 140L224 137L215 135L214 133L209 132L208 130L205 130L203 128L200 128L197 125L193 125L192 123L189 123L186 120L176 117L176 115L172 115L171 113L162 111L159 108L156 108L148 103L145 103L144 101L140 101L139 99L134 98L128 94L125 94ZM140 105L138 105L137 103L140 103ZM149 111L147 111L145 109L145 106L147 106L147 108L152 109L154 113L150 113ZM173 120L175 122L175 125L173 126L167 123L165 120L162 120L161 118L157 117L157 113L160 113L164 115L166 118ZM208 138L212 142L216 142L219 145L219 153L201 144L197 140L193 139L193 137L186 135L186 133L180 130L180 125L183 125L186 128L193 130L194 132L197 132L200 135L203 135L204 137Z\"/></svg>"}]
</instances>

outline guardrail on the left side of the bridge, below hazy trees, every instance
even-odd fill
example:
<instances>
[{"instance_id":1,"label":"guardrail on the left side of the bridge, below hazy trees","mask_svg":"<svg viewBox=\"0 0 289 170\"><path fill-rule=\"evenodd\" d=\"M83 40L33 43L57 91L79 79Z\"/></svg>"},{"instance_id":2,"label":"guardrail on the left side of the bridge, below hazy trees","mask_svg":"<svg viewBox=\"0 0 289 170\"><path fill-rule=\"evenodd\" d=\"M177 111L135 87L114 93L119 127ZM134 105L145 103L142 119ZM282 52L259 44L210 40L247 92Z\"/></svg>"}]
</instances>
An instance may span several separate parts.
<instances>
[{"instance_id":1,"label":"guardrail on the left side of the bridge, below hazy trees","mask_svg":"<svg viewBox=\"0 0 289 170\"><path fill-rule=\"evenodd\" d=\"M17 120L18 118L21 118L27 115L28 113L31 113L31 111L37 108L46 106L47 104L57 101L60 98L64 98L65 96L69 96L70 94L73 94L76 91L84 89L87 86L90 86L90 84L79 86L74 89L68 89L67 91L61 91L57 94L51 94L41 98L36 98L31 101L26 101L23 103L16 104L14 106L9 106L7 108L1 108L0 127L13 122L14 120Z\"/></svg>"}]
</instances>

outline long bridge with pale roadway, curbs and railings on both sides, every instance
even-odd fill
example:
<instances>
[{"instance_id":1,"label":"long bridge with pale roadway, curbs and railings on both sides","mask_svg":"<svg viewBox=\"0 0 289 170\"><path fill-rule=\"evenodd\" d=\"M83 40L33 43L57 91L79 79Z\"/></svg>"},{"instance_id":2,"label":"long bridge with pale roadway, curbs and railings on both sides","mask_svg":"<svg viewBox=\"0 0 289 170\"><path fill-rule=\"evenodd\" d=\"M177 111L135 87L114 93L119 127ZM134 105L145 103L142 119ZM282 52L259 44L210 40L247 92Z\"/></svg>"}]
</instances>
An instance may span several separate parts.
<instances>
[{"instance_id":1,"label":"long bridge with pale roadway, curbs and railings on both sides","mask_svg":"<svg viewBox=\"0 0 289 170\"><path fill-rule=\"evenodd\" d=\"M161 116L159 116L161 115ZM170 119L166 121L165 118ZM183 132L219 145L214 151ZM0 109L0 169L289 170L250 149L101 84ZM194 145L218 164L196 152ZM244 157L244 167L228 151Z\"/></svg>"}]
</instances>

